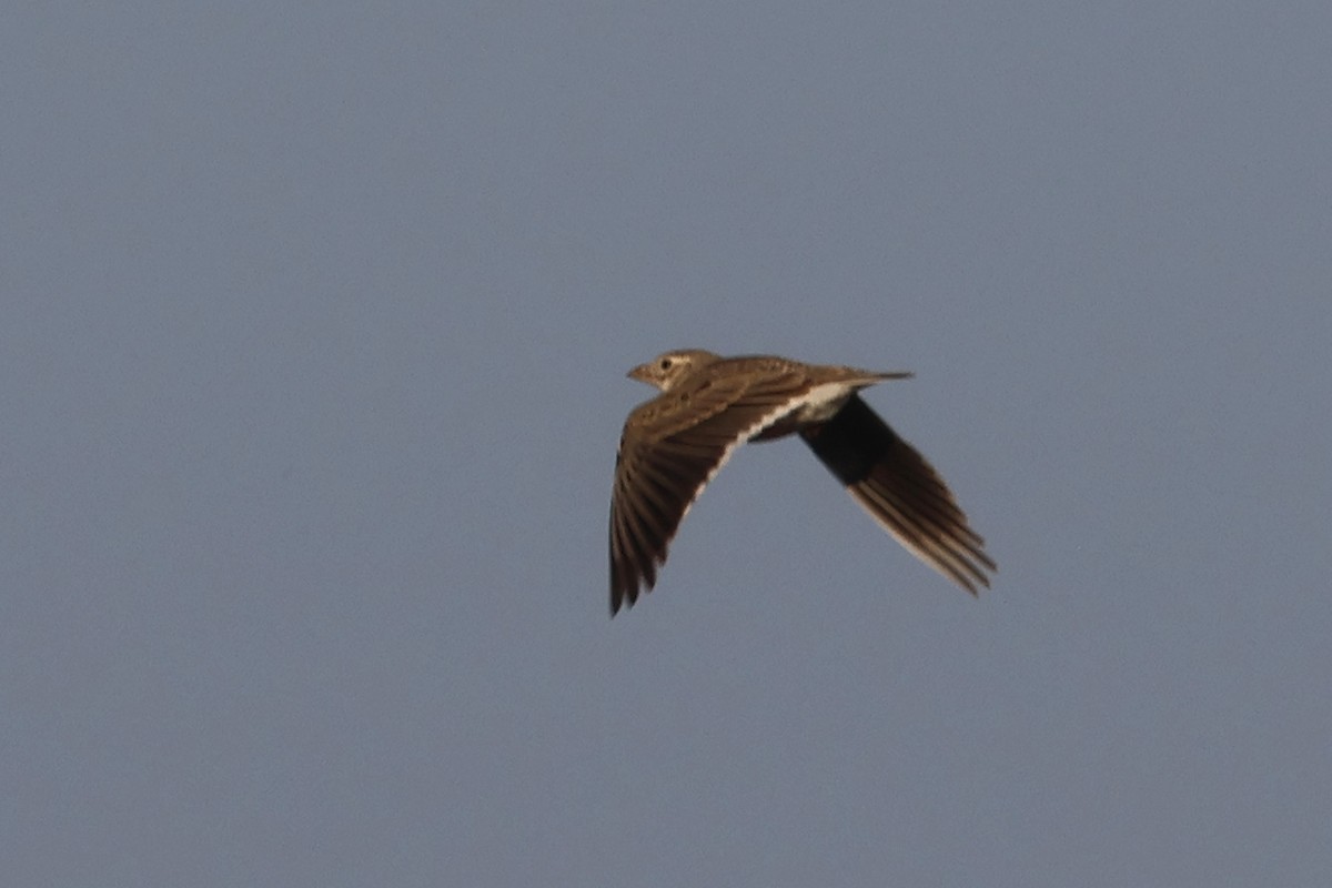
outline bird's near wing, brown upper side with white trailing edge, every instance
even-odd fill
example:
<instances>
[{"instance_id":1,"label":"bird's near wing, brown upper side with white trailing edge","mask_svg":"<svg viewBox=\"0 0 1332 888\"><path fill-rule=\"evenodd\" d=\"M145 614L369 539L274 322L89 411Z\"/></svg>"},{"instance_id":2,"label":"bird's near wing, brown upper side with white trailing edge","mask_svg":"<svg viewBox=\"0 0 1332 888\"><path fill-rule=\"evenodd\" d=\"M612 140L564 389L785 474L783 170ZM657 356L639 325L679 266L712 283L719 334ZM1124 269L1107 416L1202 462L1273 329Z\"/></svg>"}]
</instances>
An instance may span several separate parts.
<instances>
[{"instance_id":1,"label":"bird's near wing, brown upper side with white trailing edge","mask_svg":"<svg viewBox=\"0 0 1332 888\"><path fill-rule=\"evenodd\" d=\"M690 506L735 447L809 390L798 370L717 375L642 405L625 422L610 499L610 612L651 590Z\"/></svg>"}]
</instances>

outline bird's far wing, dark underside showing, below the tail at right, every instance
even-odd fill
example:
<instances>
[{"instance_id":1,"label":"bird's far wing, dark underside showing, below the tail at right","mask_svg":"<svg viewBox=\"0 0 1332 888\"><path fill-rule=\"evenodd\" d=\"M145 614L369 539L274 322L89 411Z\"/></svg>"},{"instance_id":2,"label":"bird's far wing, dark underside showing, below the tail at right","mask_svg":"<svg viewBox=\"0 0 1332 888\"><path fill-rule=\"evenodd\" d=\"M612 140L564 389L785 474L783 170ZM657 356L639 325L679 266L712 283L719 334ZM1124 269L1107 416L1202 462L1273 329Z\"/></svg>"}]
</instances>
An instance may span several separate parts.
<instances>
[{"instance_id":1,"label":"bird's far wing, dark underside showing, below the tail at right","mask_svg":"<svg viewBox=\"0 0 1332 888\"><path fill-rule=\"evenodd\" d=\"M972 595L995 563L943 479L859 395L801 437L847 493L920 560Z\"/></svg>"}]
</instances>

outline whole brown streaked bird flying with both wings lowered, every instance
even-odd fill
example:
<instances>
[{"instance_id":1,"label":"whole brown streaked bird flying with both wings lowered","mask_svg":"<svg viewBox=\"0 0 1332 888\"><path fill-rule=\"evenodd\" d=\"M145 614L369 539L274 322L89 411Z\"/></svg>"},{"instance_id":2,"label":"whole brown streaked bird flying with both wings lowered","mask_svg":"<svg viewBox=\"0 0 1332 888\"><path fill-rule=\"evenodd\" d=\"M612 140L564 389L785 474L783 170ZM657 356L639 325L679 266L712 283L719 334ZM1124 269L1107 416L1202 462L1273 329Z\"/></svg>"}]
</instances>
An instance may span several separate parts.
<instances>
[{"instance_id":1,"label":"whole brown streaked bird flying with both wings lowered","mask_svg":"<svg viewBox=\"0 0 1332 888\"><path fill-rule=\"evenodd\" d=\"M629 371L661 389L625 421L610 498L610 614L651 591L690 506L746 441L799 434L916 558L972 595L995 563L943 479L856 394L910 373L666 351Z\"/></svg>"}]
</instances>

